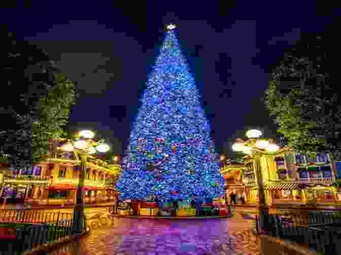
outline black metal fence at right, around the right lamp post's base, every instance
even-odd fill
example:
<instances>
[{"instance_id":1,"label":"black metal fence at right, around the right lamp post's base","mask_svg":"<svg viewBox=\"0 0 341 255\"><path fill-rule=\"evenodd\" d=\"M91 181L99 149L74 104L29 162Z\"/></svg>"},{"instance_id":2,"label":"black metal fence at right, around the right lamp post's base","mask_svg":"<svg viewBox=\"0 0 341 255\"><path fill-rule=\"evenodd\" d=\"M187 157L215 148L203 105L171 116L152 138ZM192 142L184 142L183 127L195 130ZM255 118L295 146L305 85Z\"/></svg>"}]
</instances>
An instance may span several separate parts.
<instances>
[{"instance_id":1,"label":"black metal fence at right, around the right lamp post's base","mask_svg":"<svg viewBox=\"0 0 341 255\"><path fill-rule=\"evenodd\" d=\"M256 228L259 229L259 217ZM323 254L341 254L341 217L335 212L269 214L267 234L291 240Z\"/></svg>"}]
</instances>

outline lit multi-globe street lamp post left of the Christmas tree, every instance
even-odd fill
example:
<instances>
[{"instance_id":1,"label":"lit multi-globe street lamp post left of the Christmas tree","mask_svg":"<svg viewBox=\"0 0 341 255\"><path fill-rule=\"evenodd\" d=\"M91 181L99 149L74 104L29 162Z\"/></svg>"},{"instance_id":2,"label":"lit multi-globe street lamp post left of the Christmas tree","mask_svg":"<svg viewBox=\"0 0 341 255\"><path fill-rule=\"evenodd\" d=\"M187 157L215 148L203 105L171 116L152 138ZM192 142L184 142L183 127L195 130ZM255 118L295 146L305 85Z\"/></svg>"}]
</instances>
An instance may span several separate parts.
<instances>
[{"instance_id":1,"label":"lit multi-globe street lamp post left of the Christmas tree","mask_svg":"<svg viewBox=\"0 0 341 255\"><path fill-rule=\"evenodd\" d=\"M83 227L84 218L84 203L82 191L85 180L85 167L89 154L97 152L105 153L110 150L108 144L104 140L98 142L93 140L94 133L90 130L83 130L78 134L76 139L69 140L62 146L62 150L67 152L76 151L81 158L81 170L79 174L79 181L76 193L76 204L74 206L74 218L73 218L73 232L81 233Z\"/></svg>"}]
</instances>

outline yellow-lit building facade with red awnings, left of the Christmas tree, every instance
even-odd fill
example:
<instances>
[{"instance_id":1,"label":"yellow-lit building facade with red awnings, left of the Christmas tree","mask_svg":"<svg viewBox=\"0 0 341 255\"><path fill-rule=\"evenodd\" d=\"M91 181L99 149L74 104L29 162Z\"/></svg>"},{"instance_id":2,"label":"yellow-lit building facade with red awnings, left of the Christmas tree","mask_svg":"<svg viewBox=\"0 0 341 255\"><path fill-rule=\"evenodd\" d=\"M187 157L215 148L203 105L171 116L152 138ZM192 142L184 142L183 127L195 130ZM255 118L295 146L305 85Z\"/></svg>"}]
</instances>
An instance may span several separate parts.
<instances>
[{"instance_id":1,"label":"yellow-lit building facade with red awnings, left of the Christmas tree","mask_svg":"<svg viewBox=\"0 0 341 255\"><path fill-rule=\"evenodd\" d=\"M32 205L74 204L80 163L76 153L54 150L48 159L26 169L15 170L3 164L0 167L2 203L7 200L8 203ZM120 164L107 164L90 156L85 166L84 203L115 201L114 186L120 174Z\"/></svg>"}]
</instances>

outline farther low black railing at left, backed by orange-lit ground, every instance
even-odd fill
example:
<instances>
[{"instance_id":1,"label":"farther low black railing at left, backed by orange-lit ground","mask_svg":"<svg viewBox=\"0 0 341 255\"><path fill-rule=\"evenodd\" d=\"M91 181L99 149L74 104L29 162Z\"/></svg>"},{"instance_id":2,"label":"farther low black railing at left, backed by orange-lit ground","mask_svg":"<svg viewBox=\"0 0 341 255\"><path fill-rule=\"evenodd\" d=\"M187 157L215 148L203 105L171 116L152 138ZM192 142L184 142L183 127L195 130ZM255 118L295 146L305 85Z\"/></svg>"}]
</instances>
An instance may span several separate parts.
<instances>
[{"instance_id":1,"label":"farther low black railing at left, backed by orange-lit ground","mask_svg":"<svg viewBox=\"0 0 341 255\"><path fill-rule=\"evenodd\" d=\"M35 210L0 210L0 223L55 223L72 220L73 213Z\"/></svg>"}]
</instances>

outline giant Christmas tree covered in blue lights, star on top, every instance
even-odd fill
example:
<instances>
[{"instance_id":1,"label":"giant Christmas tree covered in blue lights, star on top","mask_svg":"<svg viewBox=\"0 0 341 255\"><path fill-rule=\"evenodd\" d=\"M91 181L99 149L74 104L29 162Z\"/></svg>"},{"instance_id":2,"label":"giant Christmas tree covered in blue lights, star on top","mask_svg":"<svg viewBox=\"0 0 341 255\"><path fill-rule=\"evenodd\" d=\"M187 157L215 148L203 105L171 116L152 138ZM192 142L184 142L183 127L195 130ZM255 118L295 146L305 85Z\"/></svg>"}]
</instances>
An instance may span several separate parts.
<instances>
[{"instance_id":1,"label":"giant Christmas tree covered in blue lights, star on top","mask_svg":"<svg viewBox=\"0 0 341 255\"><path fill-rule=\"evenodd\" d=\"M121 199L212 200L224 179L199 94L174 26L147 82L117 182Z\"/></svg>"}]
</instances>

